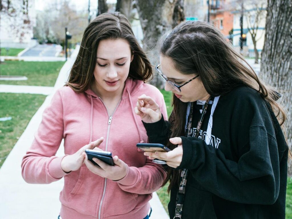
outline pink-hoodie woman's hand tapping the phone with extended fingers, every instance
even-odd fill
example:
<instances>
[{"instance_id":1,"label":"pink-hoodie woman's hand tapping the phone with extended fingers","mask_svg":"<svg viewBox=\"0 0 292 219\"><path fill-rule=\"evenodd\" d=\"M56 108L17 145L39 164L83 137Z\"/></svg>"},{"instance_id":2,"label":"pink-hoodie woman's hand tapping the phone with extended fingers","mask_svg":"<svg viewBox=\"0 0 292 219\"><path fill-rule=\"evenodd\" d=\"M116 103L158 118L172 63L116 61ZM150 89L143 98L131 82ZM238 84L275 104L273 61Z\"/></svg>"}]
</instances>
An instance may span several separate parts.
<instances>
[{"instance_id":1,"label":"pink-hoodie woman's hand tapping the phone with extended fingers","mask_svg":"<svg viewBox=\"0 0 292 219\"><path fill-rule=\"evenodd\" d=\"M98 145L103 141L103 137L99 138L96 141L89 143L88 145L84 145L81 147L76 153L65 156L61 161L61 168L65 173L70 171L78 170L84 162L86 158L85 149L95 149ZM101 150L96 148L95 150Z\"/></svg>"}]
</instances>

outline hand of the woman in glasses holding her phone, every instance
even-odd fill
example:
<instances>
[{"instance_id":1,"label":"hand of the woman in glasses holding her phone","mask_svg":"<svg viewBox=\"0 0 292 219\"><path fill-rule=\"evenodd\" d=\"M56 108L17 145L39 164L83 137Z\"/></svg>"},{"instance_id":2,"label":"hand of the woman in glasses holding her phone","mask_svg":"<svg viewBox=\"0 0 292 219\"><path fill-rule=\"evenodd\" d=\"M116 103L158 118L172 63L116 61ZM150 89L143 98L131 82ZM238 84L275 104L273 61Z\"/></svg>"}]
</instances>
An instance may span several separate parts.
<instances>
[{"instance_id":1,"label":"hand of the woman in glasses holding her phone","mask_svg":"<svg viewBox=\"0 0 292 219\"><path fill-rule=\"evenodd\" d=\"M180 163L183 159L183 145L182 139L180 137L170 138L169 141L174 144L178 145L175 149L169 152L144 152L144 155L149 156L150 159L159 159L166 161L166 164L172 168L177 168L180 166Z\"/></svg>"}]
</instances>

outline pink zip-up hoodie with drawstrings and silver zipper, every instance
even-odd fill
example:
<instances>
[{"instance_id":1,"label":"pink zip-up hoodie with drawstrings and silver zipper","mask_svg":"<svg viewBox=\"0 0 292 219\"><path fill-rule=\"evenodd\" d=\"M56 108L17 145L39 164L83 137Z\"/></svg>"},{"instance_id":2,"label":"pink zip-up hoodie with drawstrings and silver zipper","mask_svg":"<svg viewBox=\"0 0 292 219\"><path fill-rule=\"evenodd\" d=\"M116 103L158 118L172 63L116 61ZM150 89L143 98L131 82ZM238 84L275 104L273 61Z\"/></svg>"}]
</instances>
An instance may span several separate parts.
<instances>
[{"instance_id":1,"label":"pink zip-up hoodie with drawstrings and silver zipper","mask_svg":"<svg viewBox=\"0 0 292 219\"><path fill-rule=\"evenodd\" d=\"M62 219L142 219L147 215L148 201L166 178L166 172L136 147L138 142L147 142L142 121L134 112L142 94L154 98L167 118L163 95L140 80L126 80L121 101L111 117L102 100L90 89L76 93L64 86L55 93L21 167L27 183L52 183L64 177L65 185L60 192ZM102 150L118 155L128 164L123 179L102 178L85 164L70 173L61 169L63 157L55 154L63 138L65 154L74 154L100 137L105 138L99 146Z\"/></svg>"}]
</instances>

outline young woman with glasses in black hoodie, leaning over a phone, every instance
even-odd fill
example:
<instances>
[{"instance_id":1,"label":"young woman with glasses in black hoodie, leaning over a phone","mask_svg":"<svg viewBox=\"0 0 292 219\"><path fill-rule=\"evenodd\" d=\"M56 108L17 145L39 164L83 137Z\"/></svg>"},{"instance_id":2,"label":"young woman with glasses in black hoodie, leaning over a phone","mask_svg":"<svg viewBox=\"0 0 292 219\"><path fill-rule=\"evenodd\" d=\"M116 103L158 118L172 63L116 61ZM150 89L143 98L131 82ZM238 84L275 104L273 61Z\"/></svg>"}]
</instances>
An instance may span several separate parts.
<instances>
[{"instance_id":1,"label":"young woman with glasses in black hoodie, leaning over a phone","mask_svg":"<svg viewBox=\"0 0 292 219\"><path fill-rule=\"evenodd\" d=\"M178 25L161 45L157 72L173 92L164 121L149 96L135 108L166 161L170 218L285 218L288 146L280 95L214 27ZM179 137L180 136L180 137Z\"/></svg>"}]
</instances>

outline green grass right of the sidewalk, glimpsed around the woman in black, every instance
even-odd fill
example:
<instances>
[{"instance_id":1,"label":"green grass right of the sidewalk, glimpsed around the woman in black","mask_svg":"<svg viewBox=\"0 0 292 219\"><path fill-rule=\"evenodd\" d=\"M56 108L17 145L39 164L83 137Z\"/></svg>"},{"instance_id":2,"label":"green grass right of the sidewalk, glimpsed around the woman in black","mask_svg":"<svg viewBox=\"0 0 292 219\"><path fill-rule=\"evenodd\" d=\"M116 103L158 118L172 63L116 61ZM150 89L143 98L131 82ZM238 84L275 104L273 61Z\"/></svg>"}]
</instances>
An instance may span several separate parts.
<instances>
[{"instance_id":1,"label":"green grass right of the sidewalk, glimpsed around the woman in black","mask_svg":"<svg viewBox=\"0 0 292 219\"><path fill-rule=\"evenodd\" d=\"M168 116L171 113L172 107L171 107L171 101L172 101L172 95L171 92L161 90L161 93L164 95L164 100L166 103L167 108L167 114ZM161 203L163 204L166 212L168 213L167 205L169 202L169 195L167 193L167 187L168 183L159 189L157 191L157 194L159 196L159 199ZM286 219L292 219L292 178L288 178L287 180L287 193L286 193Z\"/></svg>"}]
</instances>

